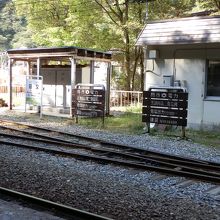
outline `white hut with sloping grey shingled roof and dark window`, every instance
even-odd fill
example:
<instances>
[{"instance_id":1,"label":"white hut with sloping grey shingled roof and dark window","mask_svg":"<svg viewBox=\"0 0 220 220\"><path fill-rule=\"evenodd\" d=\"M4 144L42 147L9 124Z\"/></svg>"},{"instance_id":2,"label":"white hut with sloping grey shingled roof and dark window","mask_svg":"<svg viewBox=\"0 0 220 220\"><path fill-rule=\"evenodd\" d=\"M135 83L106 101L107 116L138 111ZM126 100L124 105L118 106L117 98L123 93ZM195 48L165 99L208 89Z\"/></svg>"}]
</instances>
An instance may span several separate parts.
<instances>
[{"instance_id":1,"label":"white hut with sloping grey shingled roof and dark window","mask_svg":"<svg viewBox=\"0 0 220 220\"><path fill-rule=\"evenodd\" d=\"M136 45L145 50L145 90L186 87L188 126L220 126L220 16L148 22Z\"/></svg>"}]
</instances>

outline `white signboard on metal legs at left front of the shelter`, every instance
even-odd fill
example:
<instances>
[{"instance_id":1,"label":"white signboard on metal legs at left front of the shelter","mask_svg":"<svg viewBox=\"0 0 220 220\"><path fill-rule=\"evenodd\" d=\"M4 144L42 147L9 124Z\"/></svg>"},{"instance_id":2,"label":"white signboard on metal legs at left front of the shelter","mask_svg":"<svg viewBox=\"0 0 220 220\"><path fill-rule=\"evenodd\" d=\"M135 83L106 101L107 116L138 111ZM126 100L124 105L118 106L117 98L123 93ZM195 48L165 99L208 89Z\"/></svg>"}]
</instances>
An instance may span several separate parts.
<instances>
[{"instance_id":1,"label":"white signboard on metal legs at left front of the shelter","mask_svg":"<svg viewBox=\"0 0 220 220\"><path fill-rule=\"evenodd\" d=\"M42 117L42 94L43 94L43 77L29 75L26 77L26 96L25 112L27 105L40 108L40 117Z\"/></svg>"}]
</instances>

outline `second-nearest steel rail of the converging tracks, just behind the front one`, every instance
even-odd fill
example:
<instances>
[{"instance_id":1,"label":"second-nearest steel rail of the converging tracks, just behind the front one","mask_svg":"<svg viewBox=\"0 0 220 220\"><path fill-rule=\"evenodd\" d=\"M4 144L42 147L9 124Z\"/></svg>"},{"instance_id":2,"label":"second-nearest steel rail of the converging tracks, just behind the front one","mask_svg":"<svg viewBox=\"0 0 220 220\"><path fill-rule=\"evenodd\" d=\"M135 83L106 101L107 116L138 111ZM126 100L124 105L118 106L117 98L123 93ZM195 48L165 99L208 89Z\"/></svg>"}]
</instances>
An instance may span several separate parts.
<instances>
[{"instance_id":1,"label":"second-nearest steel rail of the converging tracks, just behind the front one","mask_svg":"<svg viewBox=\"0 0 220 220\"><path fill-rule=\"evenodd\" d=\"M206 164L198 164L198 163L193 163L193 162L188 162L188 161L179 161L176 159L167 159L167 158L163 158L162 156L160 157L155 157L155 156L150 156L150 155L142 155L142 154L131 154L130 152L120 152L117 150L112 150L112 149L103 149L100 147L94 147L94 146L87 146L87 145L83 145L83 144L74 144L74 143L63 143L63 142L58 142L58 141L51 141L51 140L43 140L43 139L37 139L37 138L30 138L30 137L25 137L25 136L19 136L19 135L11 135L11 134L5 134L0 132L0 136L6 136L6 137L10 137L10 138L17 138L17 139L22 139L22 140L29 140L29 141L36 141L36 142L43 142L43 143L49 143L49 144L55 144L55 145L59 145L59 146L64 146L64 147L68 147L71 149L85 149L85 150L90 150L90 151L96 151L96 152L100 152L100 153L113 153L113 154L118 154L120 156L128 156L131 158L135 158L135 159L139 159L142 161L148 161L148 162L153 162L153 163L160 163L163 165L167 165L167 166L181 166L182 168L187 167L187 168L191 168L193 166L193 168L203 168L203 169L207 169L210 170L212 169L212 171L219 171L220 167L217 166L213 166L213 165L206 165ZM191 168L192 169L192 168ZM218 174L217 174L218 175Z\"/></svg>"}]
</instances>

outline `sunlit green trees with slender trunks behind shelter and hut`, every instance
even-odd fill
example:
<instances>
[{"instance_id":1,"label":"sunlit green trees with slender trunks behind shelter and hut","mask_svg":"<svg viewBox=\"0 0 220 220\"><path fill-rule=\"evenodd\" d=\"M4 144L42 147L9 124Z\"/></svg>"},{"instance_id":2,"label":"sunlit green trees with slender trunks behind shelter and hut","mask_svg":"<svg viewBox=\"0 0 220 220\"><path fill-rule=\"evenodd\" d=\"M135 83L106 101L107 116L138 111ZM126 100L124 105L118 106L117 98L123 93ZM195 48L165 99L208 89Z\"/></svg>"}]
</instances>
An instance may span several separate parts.
<instances>
[{"instance_id":1,"label":"sunlit green trees with slender trunks behind shelter and hut","mask_svg":"<svg viewBox=\"0 0 220 220\"><path fill-rule=\"evenodd\" d=\"M196 0L148 1L150 19L165 19L185 16ZM143 89L143 51L135 47L135 42L146 22L146 0L13 2L17 14L25 16L37 45L114 50L123 69L121 89Z\"/></svg>"}]
</instances>

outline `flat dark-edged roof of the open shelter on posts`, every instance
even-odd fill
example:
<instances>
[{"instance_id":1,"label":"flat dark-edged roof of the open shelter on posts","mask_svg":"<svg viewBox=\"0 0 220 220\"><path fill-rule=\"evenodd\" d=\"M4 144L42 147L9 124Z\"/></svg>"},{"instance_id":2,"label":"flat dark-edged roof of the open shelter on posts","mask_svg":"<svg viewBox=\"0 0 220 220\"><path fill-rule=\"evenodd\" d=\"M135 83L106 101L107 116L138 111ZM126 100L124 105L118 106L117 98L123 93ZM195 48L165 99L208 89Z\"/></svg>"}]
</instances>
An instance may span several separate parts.
<instances>
[{"instance_id":1,"label":"flat dark-edged roof of the open shelter on posts","mask_svg":"<svg viewBox=\"0 0 220 220\"><path fill-rule=\"evenodd\" d=\"M81 47L53 47L53 48L27 48L27 49L11 49L7 51L9 58L17 60L30 60L36 58L79 58L90 60L110 61L111 53L86 49Z\"/></svg>"}]
</instances>

